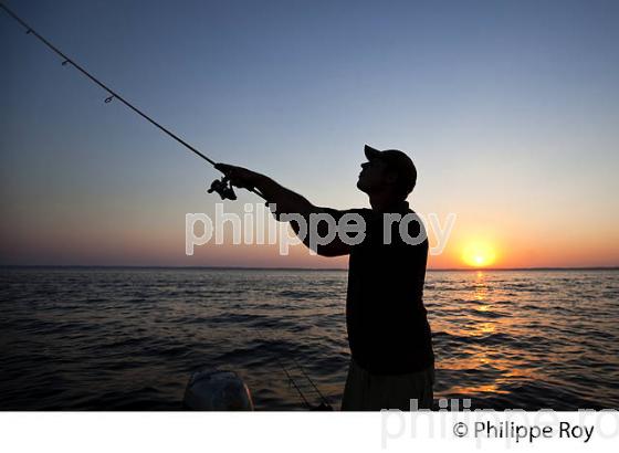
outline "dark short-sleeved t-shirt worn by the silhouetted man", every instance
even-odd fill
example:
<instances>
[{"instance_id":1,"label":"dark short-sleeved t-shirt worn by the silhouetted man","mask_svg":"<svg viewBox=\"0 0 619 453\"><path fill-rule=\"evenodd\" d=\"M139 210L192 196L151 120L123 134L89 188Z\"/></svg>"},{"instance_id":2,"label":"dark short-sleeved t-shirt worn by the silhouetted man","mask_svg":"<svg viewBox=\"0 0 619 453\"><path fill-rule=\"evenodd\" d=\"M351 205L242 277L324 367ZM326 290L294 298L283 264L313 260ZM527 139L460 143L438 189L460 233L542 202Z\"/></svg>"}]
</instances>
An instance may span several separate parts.
<instances>
[{"instance_id":1,"label":"dark short-sleeved t-shirt worn by the silhouetted man","mask_svg":"<svg viewBox=\"0 0 619 453\"><path fill-rule=\"evenodd\" d=\"M407 202L395 211L402 217L413 214ZM420 220L408 225L403 222L410 236L407 243L399 233L400 222L392 222L391 243L385 244L384 213L370 209L333 213L340 217L353 212L366 223L366 236L352 246L348 265L346 326L353 358L376 375L428 368L434 362L434 355L423 306L428 261L423 224ZM423 240L410 244L420 231Z\"/></svg>"}]
</instances>

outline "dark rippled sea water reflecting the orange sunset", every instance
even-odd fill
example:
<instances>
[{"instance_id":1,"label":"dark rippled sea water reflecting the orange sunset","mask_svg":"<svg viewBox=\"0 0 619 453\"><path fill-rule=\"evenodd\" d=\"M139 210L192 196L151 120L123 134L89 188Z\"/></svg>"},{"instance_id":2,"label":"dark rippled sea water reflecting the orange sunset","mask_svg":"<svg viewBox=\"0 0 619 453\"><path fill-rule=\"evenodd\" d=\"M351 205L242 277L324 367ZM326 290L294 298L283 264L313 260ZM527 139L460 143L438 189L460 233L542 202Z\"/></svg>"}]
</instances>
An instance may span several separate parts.
<instances>
[{"instance_id":1,"label":"dark rippled sea water reflecting the orange sunset","mask_svg":"<svg viewBox=\"0 0 619 453\"><path fill-rule=\"evenodd\" d=\"M346 273L1 270L0 409L180 409L192 371L237 371L256 409L339 408ZM436 397L619 408L619 271L429 272Z\"/></svg>"}]
</instances>

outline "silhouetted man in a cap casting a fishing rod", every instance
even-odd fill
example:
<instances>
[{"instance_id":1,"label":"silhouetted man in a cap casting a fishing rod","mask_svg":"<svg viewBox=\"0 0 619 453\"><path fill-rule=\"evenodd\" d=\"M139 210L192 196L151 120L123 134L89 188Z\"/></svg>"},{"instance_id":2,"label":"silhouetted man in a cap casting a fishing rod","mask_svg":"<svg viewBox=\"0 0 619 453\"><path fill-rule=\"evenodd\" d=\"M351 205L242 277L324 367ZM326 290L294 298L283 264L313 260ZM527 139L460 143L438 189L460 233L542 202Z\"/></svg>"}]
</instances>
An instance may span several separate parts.
<instances>
[{"instance_id":1,"label":"silhouetted man in a cap casting a fishing rod","mask_svg":"<svg viewBox=\"0 0 619 453\"><path fill-rule=\"evenodd\" d=\"M241 167L217 166L234 186L258 189L276 214L358 214L363 241L350 245L337 234L314 245L324 256L350 255L346 326L350 364L342 410L431 408L434 356L423 306L428 240L423 224L406 201L417 182L412 160L399 150L365 147L357 188L369 196L371 209L334 210L312 204L271 178ZM298 234L300 224L291 221ZM321 236L325 236L324 224ZM311 232L310 232L311 233ZM308 235L301 238L310 245ZM387 241L389 236L389 241ZM315 244L315 242L314 242Z\"/></svg>"}]
</instances>

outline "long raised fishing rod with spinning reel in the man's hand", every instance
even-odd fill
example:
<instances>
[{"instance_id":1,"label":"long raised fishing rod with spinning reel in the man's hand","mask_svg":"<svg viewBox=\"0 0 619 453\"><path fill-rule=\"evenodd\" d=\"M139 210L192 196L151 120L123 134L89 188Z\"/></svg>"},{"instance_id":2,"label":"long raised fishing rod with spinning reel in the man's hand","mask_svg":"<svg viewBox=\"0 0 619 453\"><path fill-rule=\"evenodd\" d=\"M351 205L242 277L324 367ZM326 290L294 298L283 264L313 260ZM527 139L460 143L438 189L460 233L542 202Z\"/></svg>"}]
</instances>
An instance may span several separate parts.
<instances>
[{"instance_id":1,"label":"long raised fishing rod with spinning reel in the man's hand","mask_svg":"<svg viewBox=\"0 0 619 453\"><path fill-rule=\"evenodd\" d=\"M12 19L14 19L20 25L22 25L25 29L25 34L33 35L39 41L41 41L48 49L50 49L56 55L60 55L63 59L62 60L62 65L63 66L71 65L71 66L75 67L83 75L85 75L91 82L95 83L96 85L102 87L105 92L107 92L107 94L109 94L109 96L105 98L105 101L104 101L105 104L109 104L114 99L119 101L120 103L123 103L127 107L129 107L133 112L135 112L136 114L141 116L144 119L146 119L148 123L150 123L151 125L157 127L159 130L161 130L164 134L168 135L169 137L171 137L172 139L178 141L180 145L182 145L183 147L189 149L191 152L193 152L198 157L200 157L203 160L206 160L207 162L209 162L211 166L214 167L214 169L221 171L223 173L223 177L221 179L216 179L214 181L212 181L211 187L207 190L208 193L217 192L217 193L219 193L219 196L221 197L222 200L225 200L225 199L235 200L237 199L237 194L234 193L234 189L232 188L232 183L230 182L230 175L225 173L224 171L219 169L218 166L217 166L217 162L214 160L212 160L210 157L208 157L203 152L199 151L196 147L189 145L186 140L183 140L178 135L176 135L175 133L169 130L167 127L157 123L155 119L153 119L150 116L145 114L143 110L140 110L134 104L132 104L130 102L125 99L123 96L120 96L117 92L109 88L106 84L101 82L98 78L96 78L94 75L92 75L88 71L86 71L82 65L80 65L75 60L69 57L64 52L62 52L60 49L57 49L49 40L43 38L39 32L36 32L32 27L30 27L25 21L23 21L19 15L17 15L12 10L10 10L4 3L0 2L0 8L2 10L4 10L7 12L7 14L9 14ZM255 194L258 194L259 197L262 197L264 199L264 196L258 189L248 188L248 190L254 192Z\"/></svg>"}]
</instances>

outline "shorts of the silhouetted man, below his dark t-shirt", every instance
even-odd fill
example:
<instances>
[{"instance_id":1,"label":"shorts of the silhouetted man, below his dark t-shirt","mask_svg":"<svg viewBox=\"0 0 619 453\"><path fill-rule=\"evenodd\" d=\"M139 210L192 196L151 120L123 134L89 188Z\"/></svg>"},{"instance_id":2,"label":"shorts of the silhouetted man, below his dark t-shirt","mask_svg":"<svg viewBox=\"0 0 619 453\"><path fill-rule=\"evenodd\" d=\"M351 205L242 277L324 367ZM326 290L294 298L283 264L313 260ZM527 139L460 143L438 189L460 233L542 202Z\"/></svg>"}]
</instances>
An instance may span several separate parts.
<instances>
[{"instance_id":1,"label":"shorts of the silhouetted man, below his dark t-shirt","mask_svg":"<svg viewBox=\"0 0 619 453\"><path fill-rule=\"evenodd\" d=\"M410 411L417 400L418 409L431 409L434 393L434 366L409 375L370 375L350 359L343 411L379 411L399 409Z\"/></svg>"}]
</instances>

